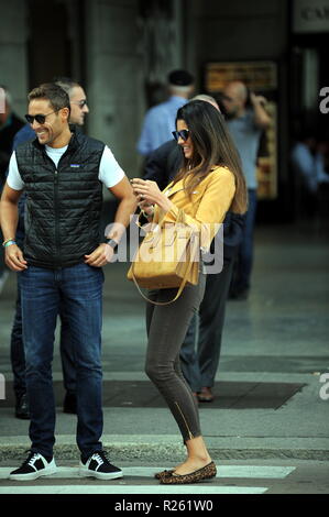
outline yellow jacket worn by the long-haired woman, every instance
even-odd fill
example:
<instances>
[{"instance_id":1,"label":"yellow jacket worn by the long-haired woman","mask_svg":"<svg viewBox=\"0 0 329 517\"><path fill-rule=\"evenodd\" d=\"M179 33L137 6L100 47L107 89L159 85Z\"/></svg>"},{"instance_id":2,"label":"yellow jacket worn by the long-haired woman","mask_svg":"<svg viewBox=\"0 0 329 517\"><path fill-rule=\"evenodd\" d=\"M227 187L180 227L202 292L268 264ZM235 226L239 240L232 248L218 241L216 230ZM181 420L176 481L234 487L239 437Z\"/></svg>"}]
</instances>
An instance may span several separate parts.
<instances>
[{"instance_id":1,"label":"yellow jacket worn by the long-haired woman","mask_svg":"<svg viewBox=\"0 0 329 517\"><path fill-rule=\"evenodd\" d=\"M212 167L193 191L191 199L184 189L183 179L174 187L172 185L171 183L163 193L175 206L167 212L155 206L153 222L176 222L179 209L183 210L185 222L200 232L200 246L207 250L231 206L235 193L233 173L227 167Z\"/></svg>"}]
</instances>

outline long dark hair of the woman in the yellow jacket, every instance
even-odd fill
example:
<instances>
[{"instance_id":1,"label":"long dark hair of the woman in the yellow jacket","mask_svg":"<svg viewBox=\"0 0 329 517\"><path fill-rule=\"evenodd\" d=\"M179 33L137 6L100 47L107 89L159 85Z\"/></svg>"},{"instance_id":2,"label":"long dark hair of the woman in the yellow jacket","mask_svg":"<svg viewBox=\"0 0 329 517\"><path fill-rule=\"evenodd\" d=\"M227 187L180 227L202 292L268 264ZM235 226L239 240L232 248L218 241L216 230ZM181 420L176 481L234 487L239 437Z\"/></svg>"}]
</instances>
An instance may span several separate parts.
<instances>
[{"instance_id":1,"label":"long dark hair of the woman in the yellow jacket","mask_svg":"<svg viewBox=\"0 0 329 517\"><path fill-rule=\"evenodd\" d=\"M213 166L228 167L235 178L235 194L230 210L244 213L246 186L240 156L227 129L222 114L209 102L193 100L177 111L177 120L184 120L194 144L191 158L184 156L184 164L174 184L184 179L188 195L211 172Z\"/></svg>"}]
</instances>

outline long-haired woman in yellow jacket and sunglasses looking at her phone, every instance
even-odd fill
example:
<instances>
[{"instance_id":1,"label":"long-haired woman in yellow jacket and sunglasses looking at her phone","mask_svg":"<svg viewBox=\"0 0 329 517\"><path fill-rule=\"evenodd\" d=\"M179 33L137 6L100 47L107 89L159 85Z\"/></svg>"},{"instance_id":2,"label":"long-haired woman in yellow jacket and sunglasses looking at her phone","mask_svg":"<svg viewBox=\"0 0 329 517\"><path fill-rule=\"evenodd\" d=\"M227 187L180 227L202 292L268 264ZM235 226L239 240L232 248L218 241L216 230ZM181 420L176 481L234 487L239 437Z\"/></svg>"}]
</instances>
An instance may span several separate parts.
<instances>
[{"instance_id":1,"label":"long-haired woman in yellow jacket and sunglasses looking at her phone","mask_svg":"<svg viewBox=\"0 0 329 517\"><path fill-rule=\"evenodd\" d=\"M230 209L243 213L246 190L237 150L219 111L210 103L195 100L177 112L173 132L184 154L184 164L164 191L155 182L132 179L140 208L149 221L176 222L183 210L187 224L199 230L201 249L209 249L215 224ZM201 264L201 261L200 261ZM171 305L147 302L149 344L145 372L165 398L187 449L187 459L172 471L155 476L162 484L195 483L216 475L204 442L196 399L183 377L179 349L195 311L201 302L206 275L200 267L198 285L188 285ZM177 289L149 293L154 301L168 301Z\"/></svg>"}]
</instances>

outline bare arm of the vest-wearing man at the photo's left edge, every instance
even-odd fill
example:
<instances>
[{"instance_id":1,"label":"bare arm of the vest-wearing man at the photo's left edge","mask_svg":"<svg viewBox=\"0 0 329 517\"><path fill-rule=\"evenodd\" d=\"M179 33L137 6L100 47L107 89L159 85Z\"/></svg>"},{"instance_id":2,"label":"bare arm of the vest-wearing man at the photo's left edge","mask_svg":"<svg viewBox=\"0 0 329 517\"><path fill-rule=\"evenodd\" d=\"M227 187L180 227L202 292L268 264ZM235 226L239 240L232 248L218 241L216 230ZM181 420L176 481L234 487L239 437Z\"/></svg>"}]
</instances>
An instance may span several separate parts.
<instances>
[{"instance_id":1,"label":"bare arm of the vest-wearing man at the photo's left edge","mask_svg":"<svg viewBox=\"0 0 329 517\"><path fill-rule=\"evenodd\" d=\"M0 202L0 223L3 242L15 239L19 219L18 204L21 194L22 190L14 190L6 183ZM23 253L17 244L4 246L4 260L8 267L12 271L19 272L28 267Z\"/></svg>"}]
</instances>

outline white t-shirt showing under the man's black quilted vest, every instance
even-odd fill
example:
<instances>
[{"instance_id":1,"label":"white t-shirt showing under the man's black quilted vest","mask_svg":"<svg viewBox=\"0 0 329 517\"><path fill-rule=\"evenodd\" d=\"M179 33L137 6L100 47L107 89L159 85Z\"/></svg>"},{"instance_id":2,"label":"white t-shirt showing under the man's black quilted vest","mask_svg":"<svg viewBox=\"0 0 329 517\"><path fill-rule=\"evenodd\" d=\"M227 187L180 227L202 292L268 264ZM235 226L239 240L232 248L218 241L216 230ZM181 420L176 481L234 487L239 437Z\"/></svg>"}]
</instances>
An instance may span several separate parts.
<instances>
[{"instance_id":1,"label":"white t-shirt showing under the man's black quilted vest","mask_svg":"<svg viewBox=\"0 0 329 517\"><path fill-rule=\"evenodd\" d=\"M48 145L45 146L47 155L54 162L56 167L61 156L65 153L66 150L67 145L59 148L50 147ZM106 145L99 164L98 179L107 188L110 188L121 182L123 177L124 172L118 164L111 150ZM22 180L19 172L15 152L12 153L10 158L7 183L13 190L23 190L24 188L24 182Z\"/></svg>"}]
</instances>

